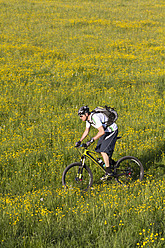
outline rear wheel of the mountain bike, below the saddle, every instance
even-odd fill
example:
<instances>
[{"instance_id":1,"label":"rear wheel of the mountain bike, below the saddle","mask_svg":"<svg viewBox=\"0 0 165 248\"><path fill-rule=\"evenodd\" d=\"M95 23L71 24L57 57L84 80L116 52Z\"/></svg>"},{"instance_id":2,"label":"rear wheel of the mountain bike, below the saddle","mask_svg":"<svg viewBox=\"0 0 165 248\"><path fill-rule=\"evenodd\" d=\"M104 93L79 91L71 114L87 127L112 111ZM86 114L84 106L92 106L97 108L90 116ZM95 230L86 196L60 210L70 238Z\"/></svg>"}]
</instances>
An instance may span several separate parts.
<instances>
[{"instance_id":1,"label":"rear wheel of the mountain bike, below the saddle","mask_svg":"<svg viewBox=\"0 0 165 248\"><path fill-rule=\"evenodd\" d=\"M114 173L116 181L128 185L131 182L141 181L144 176L144 168L139 159L125 156L119 159L115 165Z\"/></svg>"}]
</instances>

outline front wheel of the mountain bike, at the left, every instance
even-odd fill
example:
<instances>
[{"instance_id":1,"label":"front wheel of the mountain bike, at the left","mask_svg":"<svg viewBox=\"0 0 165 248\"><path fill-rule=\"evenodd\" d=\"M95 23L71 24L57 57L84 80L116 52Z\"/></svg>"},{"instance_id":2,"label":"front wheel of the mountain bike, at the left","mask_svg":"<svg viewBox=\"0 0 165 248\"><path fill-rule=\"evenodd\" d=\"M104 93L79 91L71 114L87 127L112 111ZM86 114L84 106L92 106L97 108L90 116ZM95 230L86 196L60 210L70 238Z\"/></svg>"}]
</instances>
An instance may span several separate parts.
<instances>
[{"instance_id":1,"label":"front wheel of the mountain bike, at the left","mask_svg":"<svg viewBox=\"0 0 165 248\"><path fill-rule=\"evenodd\" d=\"M88 166L81 163L68 165L62 175L62 184L69 189L87 191L92 186L93 175Z\"/></svg>"}]
</instances>

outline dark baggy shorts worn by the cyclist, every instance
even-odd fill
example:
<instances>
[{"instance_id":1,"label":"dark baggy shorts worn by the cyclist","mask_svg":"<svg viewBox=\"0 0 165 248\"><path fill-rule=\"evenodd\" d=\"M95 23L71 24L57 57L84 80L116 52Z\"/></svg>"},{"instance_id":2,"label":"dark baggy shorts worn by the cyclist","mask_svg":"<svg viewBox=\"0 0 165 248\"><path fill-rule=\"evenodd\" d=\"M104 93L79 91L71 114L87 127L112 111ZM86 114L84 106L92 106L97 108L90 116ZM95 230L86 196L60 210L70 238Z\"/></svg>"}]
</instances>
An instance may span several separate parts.
<instances>
[{"instance_id":1,"label":"dark baggy shorts worn by the cyclist","mask_svg":"<svg viewBox=\"0 0 165 248\"><path fill-rule=\"evenodd\" d=\"M109 132L105 133L103 136L100 137L95 151L99 153L105 152L111 157L115 148L117 135L118 135L118 130L110 133Z\"/></svg>"}]
</instances>

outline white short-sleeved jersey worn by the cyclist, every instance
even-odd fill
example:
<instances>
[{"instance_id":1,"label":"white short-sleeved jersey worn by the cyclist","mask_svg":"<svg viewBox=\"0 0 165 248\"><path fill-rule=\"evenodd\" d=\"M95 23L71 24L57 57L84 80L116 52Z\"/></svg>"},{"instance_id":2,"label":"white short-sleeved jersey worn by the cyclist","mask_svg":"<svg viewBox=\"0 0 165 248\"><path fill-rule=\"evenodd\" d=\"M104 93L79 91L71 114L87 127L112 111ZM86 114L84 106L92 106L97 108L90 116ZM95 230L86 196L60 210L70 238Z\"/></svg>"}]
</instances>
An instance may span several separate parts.
<instances>
[{"instance_id":1,"label":"white short-sleeved jersey worn by the cyclist","mask_svg":"<svg viewBox=\"0 0 165 248\"><path fill-rule=\"evenodd\" d=\"M112 125L108 126L106 128L106 121L108 120L108 117L102 113L95 113L90 115L90 120L86 121L86 127L90 128L92 125L95 128L99 128L103 126L105 132L113 132L118 129L117 124L113 123Z\"/></svg>"}]
</instances>

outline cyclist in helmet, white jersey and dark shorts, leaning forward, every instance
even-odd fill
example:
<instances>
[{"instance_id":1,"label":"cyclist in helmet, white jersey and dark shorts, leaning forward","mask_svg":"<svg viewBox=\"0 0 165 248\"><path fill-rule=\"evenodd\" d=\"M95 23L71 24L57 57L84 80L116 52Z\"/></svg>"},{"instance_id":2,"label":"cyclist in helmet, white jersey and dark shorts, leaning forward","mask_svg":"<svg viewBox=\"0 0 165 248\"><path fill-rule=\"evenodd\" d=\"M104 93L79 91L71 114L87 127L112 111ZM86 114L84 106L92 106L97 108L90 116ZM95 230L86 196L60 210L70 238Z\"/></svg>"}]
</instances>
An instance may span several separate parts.
<instances>
[{"instance_id":1,"label":"cyclist in helmet, white jersey and dark shorts, leaning forward","mask_svg":"<svg viewBox=\"0 0 165 248\"><path fill-rule=\"evenodd\" d=\"M86 121L86 129L82 134L82 137L78 142L76 142L76 147L81 145L81 142L87 137L90 131L90 127L93 126L98 129L98 133L96 136L91 138L86 145L90 146L95 140L98 140L97 146L95 151L101 153L105 166L106 166L106 173L105 175L100 178L101 180L106 180L108 177L113 176L111 165L115 163L115 161L111 158L115 143L117 140L118 134L118 127L116 123L113 123L110 126L106 126L104 124L107 121L107 117L103 113L91 113L89 111L88 106L82 106L78 110L78 115L82 121Z\"/></svg>"}]
</instances>

